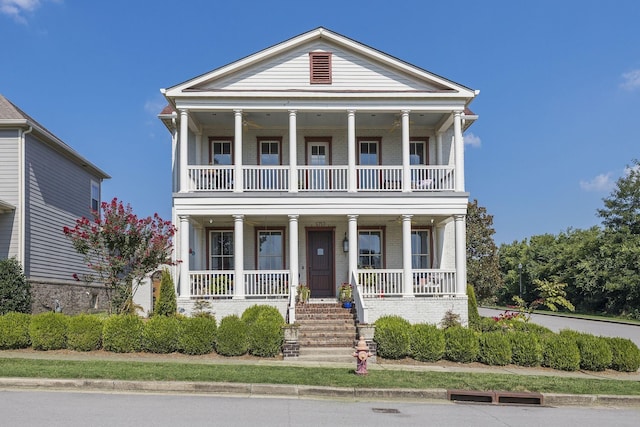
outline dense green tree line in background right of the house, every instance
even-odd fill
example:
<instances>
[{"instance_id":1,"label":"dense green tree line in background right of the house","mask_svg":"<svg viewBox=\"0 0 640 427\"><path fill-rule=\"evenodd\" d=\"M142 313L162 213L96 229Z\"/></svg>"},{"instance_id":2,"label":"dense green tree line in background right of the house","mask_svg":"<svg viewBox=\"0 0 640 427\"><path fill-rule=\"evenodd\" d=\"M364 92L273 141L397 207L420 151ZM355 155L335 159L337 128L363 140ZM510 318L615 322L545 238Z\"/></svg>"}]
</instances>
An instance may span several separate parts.
<instances>
[{"instance_id":1,"label":"dense green tree line in background right of the house","mask_svg":"<svg viewBox=\"0 0 640 427\"><path fill-rule=\"evenodd\" d=\"M493 217L474 200L467 213L468 281L482 302L539 297L534 283L566 284L584 313L640 319L640 162L634 160L597 214L601 226L570 228L522 241L493 242Z\"/></svg>"}]
</instances>

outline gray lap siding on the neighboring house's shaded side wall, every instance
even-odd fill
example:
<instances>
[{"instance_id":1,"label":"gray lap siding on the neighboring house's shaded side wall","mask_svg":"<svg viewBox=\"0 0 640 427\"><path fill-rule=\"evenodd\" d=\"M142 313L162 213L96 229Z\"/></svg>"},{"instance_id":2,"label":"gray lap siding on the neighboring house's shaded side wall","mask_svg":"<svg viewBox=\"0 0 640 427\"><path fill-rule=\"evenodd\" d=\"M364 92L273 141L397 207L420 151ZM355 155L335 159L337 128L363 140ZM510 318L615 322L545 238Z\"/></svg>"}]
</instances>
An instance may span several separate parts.
<instances>
[{"instance_id":1,"label":"gray lap siding on the neighboring house's shaded side wall","mask_svg":"<svg viewBox=\"0 0 640 427\"><path fill-rule=\"evenodd\" d=\"M90 217L91 179L99 180L34 138L27 143L26 158L27 275L70 280L73 273L86 273L62 229Z\"/></svg>"}]
</instances>

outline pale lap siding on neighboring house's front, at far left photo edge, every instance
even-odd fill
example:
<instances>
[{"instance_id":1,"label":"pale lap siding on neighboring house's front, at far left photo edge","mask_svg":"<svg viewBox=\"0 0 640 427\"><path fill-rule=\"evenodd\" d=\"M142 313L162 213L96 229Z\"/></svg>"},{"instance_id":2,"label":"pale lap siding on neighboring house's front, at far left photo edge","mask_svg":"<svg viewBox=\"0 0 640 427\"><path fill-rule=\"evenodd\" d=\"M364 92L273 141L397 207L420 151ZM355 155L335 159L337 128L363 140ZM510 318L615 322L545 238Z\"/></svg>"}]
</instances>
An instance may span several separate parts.
<instances>
[{"instance_id":1,"label":"pale lap siding on neighboring house's front, at far left photo edge","mask_svg":"<svg viewBox=\"0 0 640 427\"><path fill-rule=\"evenodd\" d=\"M0 133L0 200L18 206L17 131ZM0 213L0 259L18 256L18 214L16 209Z\"/></svg>"}]
</instances>

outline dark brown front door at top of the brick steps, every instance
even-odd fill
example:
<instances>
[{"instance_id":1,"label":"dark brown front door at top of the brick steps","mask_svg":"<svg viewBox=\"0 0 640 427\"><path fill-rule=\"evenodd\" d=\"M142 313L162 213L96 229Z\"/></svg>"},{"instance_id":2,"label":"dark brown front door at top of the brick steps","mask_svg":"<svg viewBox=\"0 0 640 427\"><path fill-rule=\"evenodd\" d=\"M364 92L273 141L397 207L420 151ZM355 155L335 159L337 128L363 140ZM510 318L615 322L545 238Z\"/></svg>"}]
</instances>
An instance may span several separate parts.
<instances>
[{"instance_id":1,"label":"dark brown front door at top of the brick steps","mask_svg":"<svg viewBox=\"0 0 640 427\"><path fill-rule=\"evenodd\" d=\"M333 230L310 230L307 233L307 265L311 298L335 297Z\"/></svg>"}]
</instances>

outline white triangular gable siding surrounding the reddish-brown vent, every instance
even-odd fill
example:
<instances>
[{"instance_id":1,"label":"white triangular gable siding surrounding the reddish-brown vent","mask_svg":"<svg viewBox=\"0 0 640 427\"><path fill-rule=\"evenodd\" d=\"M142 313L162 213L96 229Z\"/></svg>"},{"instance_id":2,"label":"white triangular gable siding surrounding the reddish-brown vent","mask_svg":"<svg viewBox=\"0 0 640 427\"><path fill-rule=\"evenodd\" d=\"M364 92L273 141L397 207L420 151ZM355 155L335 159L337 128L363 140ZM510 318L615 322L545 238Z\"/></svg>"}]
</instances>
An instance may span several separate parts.
<instances>
[{"instance_id":1,"label":"white triangular gable siding surrounding the reddish-brown vent","mask_svg":"<svg viewBox=\"0 0 640 427\"><path fill-rule=\"evenodd\" d=\"M312 85L309 77L309 52L331 52L332 83ZM254 67L222 78L203 89L225 90L386 90L386 91L433 91L435 86L426 85L409 76L392 71L382 64L355 55L325 42L314 42L264 61Z\"/></svg>"}]
</instances>

